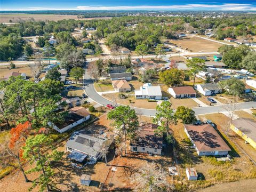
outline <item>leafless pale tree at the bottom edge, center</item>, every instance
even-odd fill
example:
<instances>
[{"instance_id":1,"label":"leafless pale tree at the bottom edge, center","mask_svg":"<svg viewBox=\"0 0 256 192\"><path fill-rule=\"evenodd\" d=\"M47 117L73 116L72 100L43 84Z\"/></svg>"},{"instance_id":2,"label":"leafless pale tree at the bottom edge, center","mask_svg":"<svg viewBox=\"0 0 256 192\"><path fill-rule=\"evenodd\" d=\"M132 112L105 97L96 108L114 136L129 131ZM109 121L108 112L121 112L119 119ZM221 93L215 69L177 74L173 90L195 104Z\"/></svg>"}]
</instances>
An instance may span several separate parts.
<instances>
[{"instance_id":1,"label":"leafless pale tree at the bottom edge, center","mask_svg":"<svg viewBox=\"0 0 256 192\"><path fill-rule=\"evenodd\" d=\"M167 172L156 164L146 163L134 174L135 191L172 191L173 186L166 180L166 176Z\"/></svg>"}]
</instances>

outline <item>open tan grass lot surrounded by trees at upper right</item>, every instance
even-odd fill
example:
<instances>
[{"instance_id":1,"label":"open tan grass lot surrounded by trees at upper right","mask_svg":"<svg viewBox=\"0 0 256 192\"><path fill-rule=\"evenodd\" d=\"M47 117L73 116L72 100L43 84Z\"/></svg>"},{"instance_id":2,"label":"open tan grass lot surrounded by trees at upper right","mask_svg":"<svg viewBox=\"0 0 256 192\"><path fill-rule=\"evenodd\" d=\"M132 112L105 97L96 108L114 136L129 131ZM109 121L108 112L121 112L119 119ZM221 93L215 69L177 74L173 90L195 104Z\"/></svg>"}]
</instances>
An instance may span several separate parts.
<instances>
[{"instance_id":1,"label":"open tan grass lot surrounded by trees at upper right","mask_svg":"<svg viewBox=\"0 0 256 192\"><path fill-rule=\"evenodd\" d=\"M188 48L192 52L213 52L218 51L218 48L221 46L220 43L210 42L206 39L199 37L185 37L178 40L171 40L171 43L174 43L178 46L181 46L183 49Z\"/></svg>"}]
</instances>

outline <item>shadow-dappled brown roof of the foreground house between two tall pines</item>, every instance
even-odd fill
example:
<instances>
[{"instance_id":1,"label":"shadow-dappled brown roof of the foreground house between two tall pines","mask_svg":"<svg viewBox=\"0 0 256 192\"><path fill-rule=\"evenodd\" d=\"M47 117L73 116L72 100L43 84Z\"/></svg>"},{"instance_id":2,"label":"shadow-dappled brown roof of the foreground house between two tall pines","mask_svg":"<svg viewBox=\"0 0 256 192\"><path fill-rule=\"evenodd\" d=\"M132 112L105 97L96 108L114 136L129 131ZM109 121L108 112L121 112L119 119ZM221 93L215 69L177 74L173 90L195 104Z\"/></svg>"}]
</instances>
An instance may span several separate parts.
<instances>
[{"instance_id":1,"label":"shadow-dappled brown roof of the foreground house between two tall pines","mask_svg":"<svg viewBox=\"0 0 256 192\"><path fill-rule=\"evenodd\" d=\"M156 127L157 125L149 125L149 123L142 125L138 137L130 142L130 146L162 149L163 137L154 132Z\"/></svg>"}]
</instances>

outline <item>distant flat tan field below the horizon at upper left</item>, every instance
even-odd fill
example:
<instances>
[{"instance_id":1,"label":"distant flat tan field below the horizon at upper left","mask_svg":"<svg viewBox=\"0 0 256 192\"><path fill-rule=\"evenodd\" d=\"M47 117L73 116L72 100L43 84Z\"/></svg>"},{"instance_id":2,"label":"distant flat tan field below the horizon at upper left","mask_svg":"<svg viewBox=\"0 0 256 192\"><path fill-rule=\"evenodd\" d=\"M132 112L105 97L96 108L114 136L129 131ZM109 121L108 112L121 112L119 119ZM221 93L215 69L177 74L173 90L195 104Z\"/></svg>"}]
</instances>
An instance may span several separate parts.
<instances>
[{"instance_id":1,"label":"distant flat tan field below the horizon at upper left","mask_svg":"<svg viewBox=\"0 0 256 192\"><path fill-rule=\"evenodd\" d=\"M58 14L1 14L0 22L19 22L21 20L31 20L34 19L36 21L59 21L62 19L76 19L76 20L91 20L91 19L110 19L110 18L82 18L78 19L77 15L58 15Z\"/></svg>"}]
</instances>

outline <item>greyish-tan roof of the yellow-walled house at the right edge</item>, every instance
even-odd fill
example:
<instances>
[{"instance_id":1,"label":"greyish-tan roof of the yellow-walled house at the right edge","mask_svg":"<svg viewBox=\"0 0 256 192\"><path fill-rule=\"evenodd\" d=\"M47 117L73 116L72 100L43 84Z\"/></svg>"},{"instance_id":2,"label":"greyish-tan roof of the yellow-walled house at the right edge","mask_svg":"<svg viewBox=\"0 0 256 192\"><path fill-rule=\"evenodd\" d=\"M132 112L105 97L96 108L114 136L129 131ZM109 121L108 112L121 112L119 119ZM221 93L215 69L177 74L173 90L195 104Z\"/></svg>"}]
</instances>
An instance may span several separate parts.
<instances>
[{"instance_id":1,"label":"greyish-tan roof of the yellow-walled house at the right edge","mask_svg":"<svg viewBox=\"0 0 256 192\"><path fill-rule=\"evenodd\" d=\"M237 118L232 121L232 124L253 141L256 141L256 121L249 118Z\"/></svg>"}]
</instances>

